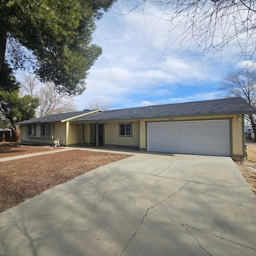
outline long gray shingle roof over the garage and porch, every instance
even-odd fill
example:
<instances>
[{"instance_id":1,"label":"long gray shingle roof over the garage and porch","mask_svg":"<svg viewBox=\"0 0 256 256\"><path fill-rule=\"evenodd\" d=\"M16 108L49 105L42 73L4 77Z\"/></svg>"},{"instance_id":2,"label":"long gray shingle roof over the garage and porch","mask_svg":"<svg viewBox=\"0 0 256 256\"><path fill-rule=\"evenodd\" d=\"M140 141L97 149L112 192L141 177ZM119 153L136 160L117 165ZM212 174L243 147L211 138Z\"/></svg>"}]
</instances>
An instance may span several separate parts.
<instances>
[{"instance_id":1,"label":"long gray shingle roof over the garage and porch","mask_svg":"<svg viewBox=\"0 0 256 256\"><path fill-rule=\"evenodd\" d=\"M223 114L254 114L256 109L242 98L224 98L176 104L157 105L152 107L124 108L98 112L78 118L72 122L132 120L146 118L171 118L186 116L217 116Z\"/></svg>"}]
</instances>

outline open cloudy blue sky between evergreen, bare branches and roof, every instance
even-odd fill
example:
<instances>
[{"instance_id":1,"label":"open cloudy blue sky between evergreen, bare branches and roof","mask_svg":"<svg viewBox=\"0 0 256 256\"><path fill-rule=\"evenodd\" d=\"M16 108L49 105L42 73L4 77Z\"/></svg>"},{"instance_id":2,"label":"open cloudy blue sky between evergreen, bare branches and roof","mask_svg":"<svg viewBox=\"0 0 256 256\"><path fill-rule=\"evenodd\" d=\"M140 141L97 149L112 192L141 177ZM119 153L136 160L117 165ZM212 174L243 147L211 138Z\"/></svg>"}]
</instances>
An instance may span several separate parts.
<instances>
[{"instance_id":1,"label":"open cloudy blue sky between evergreen, bare branches and roof","mask_svg":"<svg viewBox=\"0 0 256 256\"><path fill-rule=\"evenodd\" d=\"M95 98L112 101L113 109L215 99L222 76L243 64L229 61L236 52L232 44L212 58L173 54L176 45L164 54L169 26L156 17L163 10L148 5L144 12L137 8L125 16L115 11L96 23L93 42L102 55L90 70L86 91L75 97L78 110Z\"/></svg>"}]
</instances>

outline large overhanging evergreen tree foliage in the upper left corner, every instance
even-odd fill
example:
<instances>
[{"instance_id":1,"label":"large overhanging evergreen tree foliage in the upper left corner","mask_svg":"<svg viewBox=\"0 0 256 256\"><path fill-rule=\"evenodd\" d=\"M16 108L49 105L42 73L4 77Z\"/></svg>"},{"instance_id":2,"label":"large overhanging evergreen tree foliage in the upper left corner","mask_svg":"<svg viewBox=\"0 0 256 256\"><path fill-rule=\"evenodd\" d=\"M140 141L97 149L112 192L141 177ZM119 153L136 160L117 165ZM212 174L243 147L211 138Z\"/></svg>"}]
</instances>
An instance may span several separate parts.
<instances>
[{"instance_id":1,"label":"large overhanging evergreen tree foliage in the upper left corner","mask_svg":"<svg viewBox=\"0 0 256 256\"><path fill-rule=\"evenodd\" d=\"M28 62L42 82L54 82L69 95L85 90L88 70L101 54L92 42L95 20L112 0L2 0L0 72L8 60L16 68ZM27 50L30 50L28 53Z\"/></svg>"}]
</instances>

